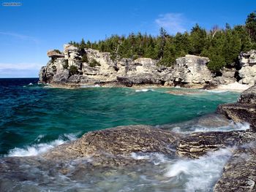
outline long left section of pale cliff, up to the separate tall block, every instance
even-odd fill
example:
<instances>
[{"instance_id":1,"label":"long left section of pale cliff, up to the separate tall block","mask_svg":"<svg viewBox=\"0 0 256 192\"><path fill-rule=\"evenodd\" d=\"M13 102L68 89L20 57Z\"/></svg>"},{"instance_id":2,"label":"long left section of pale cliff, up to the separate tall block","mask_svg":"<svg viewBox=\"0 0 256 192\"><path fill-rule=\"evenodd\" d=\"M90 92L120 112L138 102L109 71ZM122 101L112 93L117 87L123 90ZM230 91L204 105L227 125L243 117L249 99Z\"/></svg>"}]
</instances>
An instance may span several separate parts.
<instances>
[{"instance_id":1,"label":"long left section of pale cliff, up to the separate tall block","mask_svg":"<svg viewBox=\"0 0 256 192\"><path fill-rule=\"evenodd\" d=\"M110 53L64 45L64 53L51 50L52 58L39 72L39 82L77 85L164 85L170 68L151 58L113 61ZM54 59L53 59L54 58ZM77 69L75 74L70 69Z\"/></svg>"}]
</instances>

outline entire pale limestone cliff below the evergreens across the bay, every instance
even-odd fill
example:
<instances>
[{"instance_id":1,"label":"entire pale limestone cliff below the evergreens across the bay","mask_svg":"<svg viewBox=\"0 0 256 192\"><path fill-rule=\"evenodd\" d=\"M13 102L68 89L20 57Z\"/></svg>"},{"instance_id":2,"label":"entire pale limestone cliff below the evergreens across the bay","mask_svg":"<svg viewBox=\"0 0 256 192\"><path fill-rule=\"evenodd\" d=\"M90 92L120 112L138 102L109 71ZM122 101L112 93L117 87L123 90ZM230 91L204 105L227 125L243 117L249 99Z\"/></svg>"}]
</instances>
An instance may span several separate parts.
<instances>
[{"instance_id":1,"label":"entire pale limestone cliff below the evergreens across the bay","mask_svg":"<svg viewBox=\"0 0 256 192\"><path fill-rule=\"evenodd\" d=\"M206 66L209 58L186 55L176 59L171 67L158 66L151 58L111 59L110 53L64 45L64 51L49 50L51 58L39 72L39 82L64 85L181 85L203 88L206 85L229 84L240 80L254 84L256 51L241 53L240 70L223 69L214 77Z\"/></svg>"}]
</instances>

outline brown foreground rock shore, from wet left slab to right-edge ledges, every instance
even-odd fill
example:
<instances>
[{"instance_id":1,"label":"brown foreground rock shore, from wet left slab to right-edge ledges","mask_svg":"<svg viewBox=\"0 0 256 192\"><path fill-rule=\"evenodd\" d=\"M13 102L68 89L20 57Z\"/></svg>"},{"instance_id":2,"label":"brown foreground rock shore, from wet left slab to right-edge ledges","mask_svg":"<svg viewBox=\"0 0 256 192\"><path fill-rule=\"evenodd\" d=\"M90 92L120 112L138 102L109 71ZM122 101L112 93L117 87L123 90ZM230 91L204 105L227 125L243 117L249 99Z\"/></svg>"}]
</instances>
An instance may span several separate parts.
<instances>
[{"instance_id":1,"label":"brown foreground rock shore, from wet left slab to right-edge ledges","mask_svg":"<svg viewBox=\"0 0 256 192\"><path fill-rule=\"evenodd\" d=\"M146 159L132 158L132 153L161 153L178 158L200 158L209 152L233 147L233 155L225 165L214 191L256 191L255 99L256 85L241 93L237 103L219 105L217 110L219 114L236 123L250 123L250 128L245 131L180 134L143 125L107 128L84 134L80 139L59 145L42 155L1 158L0 175L6 180L12 172L20 172L20 162L38 167L47 164L58 169L57 172L68 175L69 168L61 166L65 162L81 161L78 166L89 170L98 169L97 167L147 164ZM17 174L15 180L26 177L20 174Z\"/></svg>"}]
</instances>

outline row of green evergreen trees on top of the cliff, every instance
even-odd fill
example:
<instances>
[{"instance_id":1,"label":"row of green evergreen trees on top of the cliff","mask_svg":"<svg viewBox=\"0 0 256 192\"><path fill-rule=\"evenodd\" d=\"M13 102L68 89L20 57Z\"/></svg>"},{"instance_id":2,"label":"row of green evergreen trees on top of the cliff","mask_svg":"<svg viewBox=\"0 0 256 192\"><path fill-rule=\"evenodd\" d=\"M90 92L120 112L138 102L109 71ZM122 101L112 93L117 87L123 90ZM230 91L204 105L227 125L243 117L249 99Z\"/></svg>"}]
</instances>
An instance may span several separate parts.
<instances>
[{"instance_id":1,"label":"row of green evergreen trees on top of the cliff","mask_svg":"<svg viewBox=\"0 0 256 192\"><path fill-rule=\"evenodd\" d=\"M196 24L190 32L176 35L167 34L164 28L160 28L156 37L138 32L127 37L115 34L97 42L82 39L69 44L109 52L112 59L153 58L165 66L172 66L176 58L187 54L206 56L211 59L208 68L219 72L224 66L233 66L241 51L256 49L256 12L247 16L244 25L214 26L210 31Z\"/></svg>"}]
</instances>

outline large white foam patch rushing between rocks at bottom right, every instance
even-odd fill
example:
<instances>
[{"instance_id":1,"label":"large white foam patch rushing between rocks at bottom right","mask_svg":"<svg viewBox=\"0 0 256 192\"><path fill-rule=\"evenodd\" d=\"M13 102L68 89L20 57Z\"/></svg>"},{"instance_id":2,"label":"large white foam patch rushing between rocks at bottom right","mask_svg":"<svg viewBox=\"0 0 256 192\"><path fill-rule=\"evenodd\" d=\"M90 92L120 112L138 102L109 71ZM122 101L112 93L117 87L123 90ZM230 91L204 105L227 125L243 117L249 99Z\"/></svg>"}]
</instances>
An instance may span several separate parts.
<instances>
[{"instance_id":1,"label":"large white foam patch rushing between rocks at bottom right","mask_svg":"<svg viewBox=\"0 0 256 192\"><path fill-rule=\"evenodd\" d=\"M179 159L170 164L165 177L185 183L185 191L210 191L232 155L232 148L208 153L199 159Z\"/></svg>"}]
</instances>

